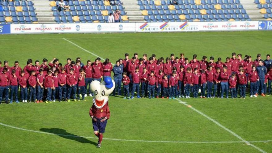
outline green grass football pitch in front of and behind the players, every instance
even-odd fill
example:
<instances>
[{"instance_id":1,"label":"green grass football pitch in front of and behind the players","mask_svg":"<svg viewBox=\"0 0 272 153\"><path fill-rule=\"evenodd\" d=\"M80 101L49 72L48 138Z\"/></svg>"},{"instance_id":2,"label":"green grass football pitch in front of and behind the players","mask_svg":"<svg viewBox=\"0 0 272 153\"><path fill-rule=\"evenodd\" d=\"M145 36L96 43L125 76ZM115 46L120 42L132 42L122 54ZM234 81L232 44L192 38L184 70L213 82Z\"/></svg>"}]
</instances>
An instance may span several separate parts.
<instances>
[{"instance_id":1,"label":"green grass football pitch in front of and behind the players","mask_svg":"<svg viewBox=\"0 0 272 153\"><path fill-rule=\"evenodd\" d=\"M115 64L125 53L222 58L271 53L272 32L0 35L0 61L70 57ZM216 60L215 60L216 61ZM102 62L104 62L102 60ZM3 64L2 64L3 65ZM239 97L239 96L238 96ZM96 148L89 109L80 102L0 105L0 152L272 152L272 96L246 99L132 99L109 96L111 117Z\"/></svg>"}]
</instances>

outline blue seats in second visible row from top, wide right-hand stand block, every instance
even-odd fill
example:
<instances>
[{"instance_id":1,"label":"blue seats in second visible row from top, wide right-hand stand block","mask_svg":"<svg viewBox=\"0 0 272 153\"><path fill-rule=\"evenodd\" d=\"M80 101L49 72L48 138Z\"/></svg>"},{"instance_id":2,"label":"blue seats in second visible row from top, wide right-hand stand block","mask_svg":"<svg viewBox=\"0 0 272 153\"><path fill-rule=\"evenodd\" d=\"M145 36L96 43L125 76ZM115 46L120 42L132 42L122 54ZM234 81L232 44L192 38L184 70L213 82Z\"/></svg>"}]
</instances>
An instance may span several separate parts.
<instances>
[{"instance_id":1,"label":"blue seats in second visible row from top, wide right-hand stand block","mask_svg":"<svg viewBox=\"0 0 272 153\"><path fill-rule=\"evenodd\" d=\"M215 10L215 6L214 5L175 5L174 6L175 10ZM243 5L221 5L221 9L225 10L225 9L244 9ZM147 5L147 6L143 6L140 5L140 10L169 10L169 7L167 5L159 5L159 6L155 6L155 5Z\"/></svg>"}]
</instances>

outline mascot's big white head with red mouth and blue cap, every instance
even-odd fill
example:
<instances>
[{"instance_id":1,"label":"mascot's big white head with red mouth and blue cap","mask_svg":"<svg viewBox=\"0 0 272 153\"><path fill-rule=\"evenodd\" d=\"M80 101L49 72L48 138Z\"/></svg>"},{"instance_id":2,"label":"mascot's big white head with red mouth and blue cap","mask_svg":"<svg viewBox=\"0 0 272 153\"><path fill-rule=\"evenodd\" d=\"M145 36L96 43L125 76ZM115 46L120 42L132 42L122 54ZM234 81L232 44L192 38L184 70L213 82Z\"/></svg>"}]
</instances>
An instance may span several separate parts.
<instances>
[{"instance_id":1,"label":"mascot's big white head with red mouth and blue cap","mask_svg":"<svg viewBox=\"0 0 272 153\"><path fill-rule=\"evenodd\" d=\"M108 102L108 95L113 92L115 83L110 77L105 77L104 81L100 83L95 80L91 82L91 91L93 95L93 103L96 108L102 108Z\"/></svg>"}]
</instances>

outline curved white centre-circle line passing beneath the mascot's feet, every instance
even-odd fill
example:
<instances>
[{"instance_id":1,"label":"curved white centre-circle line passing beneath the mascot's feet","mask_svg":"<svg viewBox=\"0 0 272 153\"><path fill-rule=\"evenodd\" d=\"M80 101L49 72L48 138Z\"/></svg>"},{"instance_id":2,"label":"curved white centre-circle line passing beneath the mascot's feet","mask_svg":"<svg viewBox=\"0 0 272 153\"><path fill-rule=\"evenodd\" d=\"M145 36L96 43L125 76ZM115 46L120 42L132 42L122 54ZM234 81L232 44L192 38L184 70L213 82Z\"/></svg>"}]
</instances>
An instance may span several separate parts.
<instances>
[{"instance_id":1,"label":"curved white centre-circle line passing beneath the mascot's feet","mask_svg":"<svg viewBox=\"0 0 272 153\"><path fill-rule=\"evenodd\" d=\"M59 136L66 136L66 137L77 137L77 138L91 138L91 139L97 139L96 137L86 137L86 136L77 136L77 135L66 135L66 134L54 134L49 132L42 132L42 131L36 131L36 130L28 130L23 129L7 124L0 123L0 125L10 127L13 129L18 130L24 130L29 132L35 132L35 133L41 133L41 134L50 134L50 135L59 135ZM244 143L244 141L150 141L150 140L128 140L128 139L115 139L115 138L103 138L104 140L114 140L114 141L130 141L130 142L155 142L155 143ZM265 140L265 141L249 141L249 142L272 142L272 140Z\"/></svg>"}]
</instances>

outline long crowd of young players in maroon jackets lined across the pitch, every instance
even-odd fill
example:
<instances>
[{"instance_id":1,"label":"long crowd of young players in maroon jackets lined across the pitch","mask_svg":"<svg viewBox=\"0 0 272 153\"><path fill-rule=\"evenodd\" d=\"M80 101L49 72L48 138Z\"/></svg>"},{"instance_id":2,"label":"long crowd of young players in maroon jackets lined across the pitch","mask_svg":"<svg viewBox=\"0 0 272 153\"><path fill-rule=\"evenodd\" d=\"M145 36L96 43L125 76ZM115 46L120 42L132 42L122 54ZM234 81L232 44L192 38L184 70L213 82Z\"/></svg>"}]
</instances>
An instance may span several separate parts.
<instances>
[{"instance_id":1,"label":"long crowd of young players in maroon jackets lined across the pitch","mask_svg":"<svg viewBox=\"0 0 272 153\"><path fill-rule=\"evenodd\" d=\"M27 66L24 67L23 70L21 70L21 68L19 67L19 62L16 61L15 62L15 66L13 67L9 67L8 66L8 62L5 61L4 62L4 67L2 67L2 73L0 74L0 95L3 95L3 92L5 93L5 100L7 103L7 97L8 97L8 91L9 88L11 88L11 95L13 95L13 93L15 93L15 101L18 101L18 98L16 99L16 91L18 92L18 85L14 85L16 84L16 81L13 81L13 83L11 83L11 80L17 80L17 83L19 83L19 85L21 86L21 97L23 102L27 101L27 96L25 96L28 92L28 87L29 87L29 100L33 99L37 99L35 100L36 102L42 102L42 96L41 93L43 92L43 88L46 88L46 92L47 92L47 98L46 98L46 102L50 102L51 101L51 91L53 90L53 100L56 99L56 93L59 94L59 100L69 100L70 99L70 94L71 92L73 92L73 98L74 100L75 98L75 93L76 91L78 91L79 95L84 95L87 96L87 86L91 83L92 80L99 80L101 81L102 77L111 77L111 71L113 71L114 73L114 81L117 85L117 94L121 95L121 82L123 82L124 85L124 90L125 90L125 98L130 98L129 93L131 92L132 94L132 98L134 97L134 92L137 91L137 97L139 98L139 85L141 84L141 89L142 89L142 96L146 96L147 94L147 90L149 91L149 98L151 98L151 93L152 93L152 97L154 97L154 90L156 88L157 90L157 98L160 94L160 91L162 92L162 98L164 98L164 96L167 97L183 97L186 96L187 98L189 97L189 93L190 93L190 89L191 87L193 87L193 96L196 97L196 93L194 91L197 91L198 88L202 88L202 95L201 97L205 97L205 87L207 86L207 97L212 97L211 96L211 90L212 90L212 86L214 86L214 91L217 91L218 96L219 92L220 92L220 88L221 91L226 91L228 90L228 85L230 85L230 87L232 87L231 83L227 83L227 87L226 87L226 80L222 81L222 78L218 78L218 80L216 80L216 77L214 77L214 75L218 75L218 74L223 74L226 73L228 74L228 76L230 75L236 75L235 77L233 76L233 79L236 79L238 84L235 85L236 88L240 88L240 94L241 97L244 98L245 94L243 94L244 92L244 88L241 85L246 85L249 81L250 81L250 87L252 87L252 92L250 93L251 97L252 96L257 96L257 92L259 91L259 89L261 90L261 95L265 96L265 87L264 86L266 82L266 79L268 79L268 84L271 84L271 72L268 71L269 73L267 73L267 69L265 66L263 66L263 61L261 60L261 55L258 54L257 55L257 59L252 62L251 61L251 57L250 56L246 56L245 60L242 60L242 55L238 54L238 59L236 58L236 54L232 53L232 58L227 57L226 58L226 62L222 63L221 62L221 58L218 59L217 62L214 62L214 58L210 57L210 62L207 62L207 57L203 56L202 61L198 61L197 60L197 55L193 55L193 60L191 60L189 62L188 58L184 58L184 54L181 53L181 58L179 59L178 57L175 58L175 56L173 54L171 54L171 59L170 58L166 58L166 63L164 63L164 58L159 58L159 60L155 59L155 55L153 54L149 60L147 60L147 55L144 54L143 58L138 59L138 54L134 53L134 57L132 57L132 59L129 59L129 55L125 54L125 59L119 59L116 62L116 65L114 67L112 67L112 64L109 62L109 59L106 59L106 61L104 63L100 62L100 58L97 58L95 60L95 62L91 63L90 60L87 61L87 65L84 66L81 62L80 62L80 58L78 57L76 62L71 61L70 58L67 59L67 64L62 67L62 64L58 63L58 59L54 58L50 63L49 66L51 67L51 69L49 69L49 67L47 66L47 60L43 59L43 64L40 65L39 61L35 61L35 66L32 65L32 60L29 59L27 62ZM0 62L1 64L1 62ZM265 60L265 65L267 67L271 66L271 60L270 60L270 55L267 55L267 59ZM207 68L208 66L208 68ZM238 72L238 69L243 70L243 72ZM257 68L257 73L255 71L255 69ZM177 70L178 69L178 70ZM226 72L224 72L226 70ZM253 71L254 70L254 71ZM138 72L137 72L138 71ZM146 72L144 72L146 71ZM193 73L191 73L193 71ZM13 73L12 73L13 72ZM23 73L21 73L23 72ZM50 74L51 72L51 74ZM126 76L126 74L128 75L128 77ZM152 73L153 72L153 73ZM187 78L187 73L189 73L190 79ZM238 72L238 73L237 73ZM12 75L11 75L12 73ZM54 74L54 76L52 76L52 73ZM242 74L240 74L242 73ZM256 79L256 81L253 79L251 80L251 78L253 77L249 77L249 74L254 73L254 75L256 75L258 78ZM20 76L21 74L21 76ZM136 75L135 75L136 74ZM204 75L206 79L204 79ZM29 77L29 75L32 75L33 77ZM55 81L53 81L54 79L51 79L53 81L53 83L47 83L45 79L46 75L49 75L51 78L55 78ZM60 82L58 81L61 77L61 75L65 76L65 78L63 80L65 80L64 82ZM122 76L123 75L123 76ZM138 77L137 77L138 75ZM146 75L146 77L142 77L142 75ZM153 76L152 76L153 75ZM171 76L172 75L172 76ZM195 76L196 75L196 76ZM219 76L220 76L219 75ZM242 79L246 79L245 83L244 82L239 82L239 76L245 75L246 77L242 76ZM267 76L266 76L267 75ZM74 84L69 84L68 82L68 76L72 76L72 78L74 78ZM270 76L270 77L269 77ZM21 85L20 84L20 78L25 81L26 85ZM32 79L36 77L35 79ZM150 79L150 77L153 77L153 81ZM165 89L165 83L161 82L163 80L165 80L165 77L167 77L168 83L167 83L167 89ZM197 79L197 78L201 78L201 79ZM2 78L2 79L1 79ZM29 80L31 78L31 80L36 80L37 83L34 84L31 87L31 80ZM48 77L49 78L49 77ZM84 78L84 79L82 79ZM171 80L174 79L173 80ZM215 78L215 79L214 79ZM230 77L228 77L230 78ZM124 80L126 79L126 80ZM129 80L128 80L129 79ZM188 80L189 79L189 80ZM231 77L232 79L232 77ZM231 80L230 79L230 80ZM5 81L6 80L6 81ZM18 81L19 80L19 81ZM48 79L50 80L50 79ZM197 81L198 80L198 81ZM206 81L205 81L206 80ZM249 80L249 81L248 81ZM190 82L190 81L193 81ZM202 81L205 81L205 83L203 83ZM129 83L128 83L129 82ZM153 84L154 82L154 84ZM227 82L230 82L227 80ZM235 82L235 81L234 81ZM43 87L43 84L46 84L45 87ZM80 85L79 85L80 83ZM244 84L241 84L244 83ZM256 85L254 85L254 83ZM52 85L47 87L48 85ZM156 85L155 85L156 84ZM201 86L201 87L197 87L197 85ZM16 88L16 87L17 88ZM67 86L67 89L66 89ZM128 86L128 87L127 87ZM154 88L153 88L154 86ZM220 86L220 87L218 87ZM256 87L255 87L256 86ZM26 88L26 89L24 89ZM33 89L32 89L33 88ZM237 91L234 90L234 94L232 97L236 97ZM23 89L23 90L22 90ZM51 90L50 90L51 89ZM169 93L168 90L169 89ZM194 90L195 89L195 90ZM215 90L216 89L216 90ZM226 89L226 90L225 90ZM37 91L37 94L33 93ZM185 94L184 94L185 91ZM189 92L188 92L189 91ZM242 92L241 92L242 91ZM67 92L67 94L66 94ZM91 96L91 91L88 90L88 94ZM113 95L115 95L115 92L113 92ZM270 86L269 86L269 93L271 92ZM1 94L2 93L2 94ZM82 94L80 94L82 93ZM204 93L204 95L203 95ZM228 92L227 92L228 94ZM31 96L30 96L31 95ZM36 96L36 97L35 97ZM84 97L83 96L83 97ZM214 96L215 96L215 92L214 92ZM221 92L221 97L223 97L223 92ZM228 97L228 96L227 96ZM2 97L0 97L2 100ZM79 99L79 96L78 96ZM13 96L11 96L11 103L13 100Z\"/></svg>"}]
</instances>

